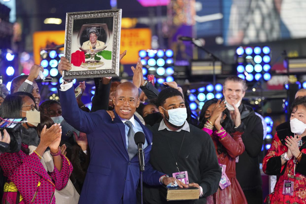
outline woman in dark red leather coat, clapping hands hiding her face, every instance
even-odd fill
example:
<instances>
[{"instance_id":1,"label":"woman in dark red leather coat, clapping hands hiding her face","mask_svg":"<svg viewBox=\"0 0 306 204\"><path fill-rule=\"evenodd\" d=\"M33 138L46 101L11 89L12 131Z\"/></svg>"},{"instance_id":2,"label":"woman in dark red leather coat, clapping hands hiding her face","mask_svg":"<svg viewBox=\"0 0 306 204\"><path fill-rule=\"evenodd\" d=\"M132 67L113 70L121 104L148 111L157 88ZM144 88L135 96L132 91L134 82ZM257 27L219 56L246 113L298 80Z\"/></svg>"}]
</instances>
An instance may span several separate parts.
<instances>
[{"instance_id":1,"label":"woman in dark red leather coat, clapping hands hiding her face","mask_svg":"<svg viewBox=\"0 0 306 204\"><path fill-rule=\"evenodd\" d=\"M230 116L223 112L224 101L215 98L205 102L200 113L200 128L211 135L216 148L219 164L225 167L226 181L223 177L218 191L207 197L208 204L247 204L244 193L236 179L236 158L244 152L244 144L241 139L243 132L235 132L232 128ZM223 127L222 127L223 126ZM229 134L230 132L230 134ZM222 169L223 170L223 169Z\"/></svg>"}]
</instances>

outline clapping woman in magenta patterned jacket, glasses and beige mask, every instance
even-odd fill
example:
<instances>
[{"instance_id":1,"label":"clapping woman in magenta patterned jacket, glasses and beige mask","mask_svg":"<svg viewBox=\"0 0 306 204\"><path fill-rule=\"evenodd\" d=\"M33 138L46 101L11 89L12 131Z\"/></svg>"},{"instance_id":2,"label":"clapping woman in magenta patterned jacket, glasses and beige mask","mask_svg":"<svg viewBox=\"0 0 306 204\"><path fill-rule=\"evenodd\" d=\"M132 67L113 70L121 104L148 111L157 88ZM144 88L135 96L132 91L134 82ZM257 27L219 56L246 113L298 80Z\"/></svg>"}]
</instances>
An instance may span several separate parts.
<instances>
[{"instance_id":1,"label":"clapping woman in magenta patterned jacket, glasses and beige mask","mask_svg":"<svg viewBox=\"0 0 306 204\"><path fill-rule=\"evenodd\" d=\"M1 106L1 117L26 117L35 114L33 112L39 113L33 96L24 92L7 96ZM66 186L73 170L70 161L61 154L59 148L62 131L60 124L54 124L49 129L44 127L40 134L40 142L35 128L32 128L33 124L35 123L31 124L29 117L28 123L21 126L22 144L19 152L0 155L0 165L4 176L7 177L3 203L55 204L55 189L62 190ZM46 151L47 147L50 151ZM50 154L53 160L51 168L45 161Z\"/></svg>"}]
</instances>

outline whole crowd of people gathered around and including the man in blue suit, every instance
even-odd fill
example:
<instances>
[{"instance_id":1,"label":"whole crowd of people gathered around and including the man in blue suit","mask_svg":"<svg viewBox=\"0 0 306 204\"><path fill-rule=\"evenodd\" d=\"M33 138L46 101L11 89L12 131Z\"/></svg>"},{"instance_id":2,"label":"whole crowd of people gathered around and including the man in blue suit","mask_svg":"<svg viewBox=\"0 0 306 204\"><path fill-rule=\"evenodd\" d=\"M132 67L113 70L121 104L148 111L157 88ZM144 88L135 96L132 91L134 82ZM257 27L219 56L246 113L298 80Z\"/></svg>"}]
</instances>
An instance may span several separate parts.
<instances>
[{"instance_id":1,"label":"whole crowd of people gathered around and including the man in blue suit","mask_svg":"<svg viewBox=\"0 0 306 204\"><path fill-rule=\"evenodd\" d=\"M61 57L58 71L70 69ZM21 150L0 154L2 202L140 203L134 135L143 132L144 203L167 203L159 191L168 184L199 189L198 200L175 203L263 203L264 131L261 118L242 103L246 82L226 78L224 98L207 100L197 120L176 82L165 82L159 92L144 80L140 59L131 69L132 82L95 78L91 109L82 95L75 97L72 80L58 86L60 101L41 102L35 82L43 71L39 65L14 78L10 94L0 92L1 118L27 117ZM85 90L84 81L80 88ZM266 203L306 200L305 95L297 93L290 122L279 126L263 159L263 171L278 176ZM4 131L0 141L9 143L8 134ZM175 177L181 172L187 182Z\"/></svg>"}]
</instances>

